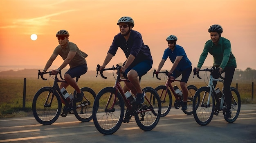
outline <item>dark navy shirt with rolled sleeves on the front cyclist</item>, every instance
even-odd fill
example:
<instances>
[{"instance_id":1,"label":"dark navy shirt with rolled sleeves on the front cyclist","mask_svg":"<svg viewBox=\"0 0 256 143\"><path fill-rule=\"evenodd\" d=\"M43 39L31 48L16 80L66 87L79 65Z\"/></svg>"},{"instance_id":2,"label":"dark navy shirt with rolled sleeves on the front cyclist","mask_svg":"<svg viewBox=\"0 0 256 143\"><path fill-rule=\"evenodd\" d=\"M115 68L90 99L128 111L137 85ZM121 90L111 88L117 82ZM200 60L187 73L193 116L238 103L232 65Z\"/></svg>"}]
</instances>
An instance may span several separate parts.
<instances>
[{"instance_id":1,"label":"dark navy shirt with rolled sleeves on the front cyclist","mask_svg":"<svg viewBox=\"0 0 256 143\"><path fill-rule=\"evenodd\" d=\"M141 34L135 30L130 31L130 37L128 41L126 41L121 33L118 33L114 37L108 53L115 56L118 47L124 51L126 58L128 58L130 54L135 56L134 61L130 65L132 67L145 60L149 60L153 63L153 59L148 46L144 45Z\"/></svg>"}]
</instances>

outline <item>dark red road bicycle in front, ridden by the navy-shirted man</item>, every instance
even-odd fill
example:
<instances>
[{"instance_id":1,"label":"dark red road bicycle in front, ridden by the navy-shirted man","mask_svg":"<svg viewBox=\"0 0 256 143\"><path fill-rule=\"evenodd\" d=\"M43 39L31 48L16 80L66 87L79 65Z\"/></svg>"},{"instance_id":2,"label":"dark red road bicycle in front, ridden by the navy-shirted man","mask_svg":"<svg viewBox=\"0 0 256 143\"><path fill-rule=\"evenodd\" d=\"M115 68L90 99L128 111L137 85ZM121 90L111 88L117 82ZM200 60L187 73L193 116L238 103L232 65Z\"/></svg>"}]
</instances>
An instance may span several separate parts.
<instances>
[{"instance_id":1,"label":"dark red road bicycle in front, ridden by the navy-shirted man","mask_svg":"<svg viewBox=\"0 0 256 143\"><path fill-rule=\"evenodd\" d=\"M99 67L97 65L97 75ZM121 78L120 69L121 66L117 65L100 71L101 77L106 79L107 77L103 76L103 71L112 70L114 75L115 70L117 70L117 78L114 87L101 89L94 100L92 116L95 127L102 134L113 134L121 126L124 119L124 110L126 109L126 118L130 119L134 116L141 130L152 130L157 126L161 115L159 95L152 87L145 87L142 89L145 92L145 102L140 105L130 102L120 85L120 82L129 82L129 80Z\"/></svg>"}]
</instances>

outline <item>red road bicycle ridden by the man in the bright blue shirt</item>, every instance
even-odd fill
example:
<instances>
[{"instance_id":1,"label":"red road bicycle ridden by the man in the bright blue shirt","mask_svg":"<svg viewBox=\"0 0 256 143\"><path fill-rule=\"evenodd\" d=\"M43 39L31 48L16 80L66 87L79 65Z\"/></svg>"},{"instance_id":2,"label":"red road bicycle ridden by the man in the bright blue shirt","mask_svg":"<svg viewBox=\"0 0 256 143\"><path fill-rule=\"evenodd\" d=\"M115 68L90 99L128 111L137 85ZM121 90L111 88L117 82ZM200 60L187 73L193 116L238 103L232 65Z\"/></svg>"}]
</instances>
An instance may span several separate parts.
<instances>
[{"instance_id":1,"label":"red road bicycle ridden by the man in the bright blue shirt","mask_svg":"<svg viewBox=\"0 0 256 143\"><path fill-rule=\"evenodd\" d=\"M153 72L153 78L154 78L155 72L156 72L156 70L154 70L154 72ZM173 93L173 96L175 98L175 102L174 102L175 109L179 109L180 106L182 105L182 103L183 103L183 94L182 93L179 94L176 91L176 89L178 89L176 85L174 87L171 85L172 82L174 82L174 81L180 82L180 80L174 80L174 79L169 78L167 70L164 71L164 72L159 72L159 74L164 74L165 78L167 79L165 85L159 85L158 87L155 88L155 90L157 91L157 93L159 94L159 97L161 99L161 104L162 104L161 117L165 117L170 112L171 106L172 106L172 103L173 103L171 92ZM157 79L161 80L161 78L158 78L158 74L156 74L156 77L157 77ZM193 106L192 106L193 97L195 95L195 92L198 89L197 89L197 87L195 87L195 85L189 85L189 86L187 86L187 88L188 88L188 91L189 91L188 92L188 99L187 99L188 109L184 110L183 112L186 115L191 115L191 114L193 114Z\"/></svg>"}]
</instances>

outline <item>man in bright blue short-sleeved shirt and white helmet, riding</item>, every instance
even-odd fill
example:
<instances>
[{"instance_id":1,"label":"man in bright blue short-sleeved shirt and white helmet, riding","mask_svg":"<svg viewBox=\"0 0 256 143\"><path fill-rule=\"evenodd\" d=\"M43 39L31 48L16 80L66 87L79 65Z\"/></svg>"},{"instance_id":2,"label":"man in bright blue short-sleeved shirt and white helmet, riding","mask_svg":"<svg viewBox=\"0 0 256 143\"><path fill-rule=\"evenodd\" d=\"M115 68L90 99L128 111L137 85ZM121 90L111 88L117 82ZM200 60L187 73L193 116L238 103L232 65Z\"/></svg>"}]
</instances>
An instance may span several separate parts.
<instances>
[{"instance_id":1,"label":"man in bright blue short-sleeved shirt and white helmet, riding","mask_svg":"<svg viewBox=\"0 0 256 143\"><path fill-rule=\"evenodd\" d=\"M188 98L188 89L186 87L186 83L189 80L189 76L192 72L192 64L191 61L189 61L189 58L186 56L185 50L180 46L177 45L177 37L175 35L169 35L166 38L166 41L168 43L168 48L164 50L164 55L162 57L162 60L160 61L156 74L159 73L159 71L162 69L164 62L169 57L171 62L173 63L173 66L171 67L171 70L168 73L168 76L170 76L171 79L178 78L180 75L182 75L180 87L182 89L184 102L182 104L182 110L187 109L187 98Z\"/></svg>"}]
</instances>

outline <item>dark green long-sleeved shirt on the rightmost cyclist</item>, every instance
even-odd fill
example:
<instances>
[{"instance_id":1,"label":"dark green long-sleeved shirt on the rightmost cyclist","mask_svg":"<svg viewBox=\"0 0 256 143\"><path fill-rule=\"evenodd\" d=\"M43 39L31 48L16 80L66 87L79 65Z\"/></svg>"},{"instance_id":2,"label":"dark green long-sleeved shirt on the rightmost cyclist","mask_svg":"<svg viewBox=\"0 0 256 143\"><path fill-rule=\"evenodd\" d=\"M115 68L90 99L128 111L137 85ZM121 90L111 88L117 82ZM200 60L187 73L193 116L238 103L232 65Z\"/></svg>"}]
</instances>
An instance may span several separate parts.
<instances>
[{"instance_id":1,"label":"dark green long-sleeved shirt on the rightmost cyclist","mask_svg":"<svg viewBox=\"0 0 256 143\"><path fill-rule=\"evenodd\" d=\"M202 67L208 52L213 55L213 66L221 67L222 69L225 69L226 66L236 67L236 58L231 52L231 44L228 39L220 37L217 45L211 40L205 43L197 66L199 69Z\"/></svg>"}]
</instances>

